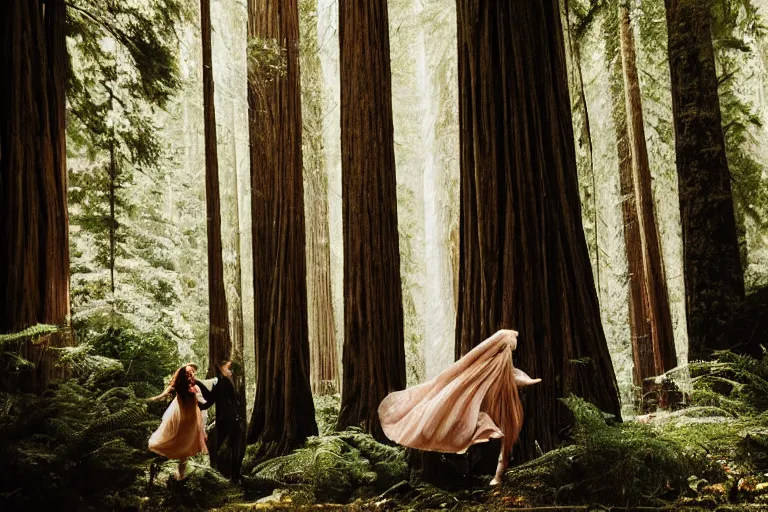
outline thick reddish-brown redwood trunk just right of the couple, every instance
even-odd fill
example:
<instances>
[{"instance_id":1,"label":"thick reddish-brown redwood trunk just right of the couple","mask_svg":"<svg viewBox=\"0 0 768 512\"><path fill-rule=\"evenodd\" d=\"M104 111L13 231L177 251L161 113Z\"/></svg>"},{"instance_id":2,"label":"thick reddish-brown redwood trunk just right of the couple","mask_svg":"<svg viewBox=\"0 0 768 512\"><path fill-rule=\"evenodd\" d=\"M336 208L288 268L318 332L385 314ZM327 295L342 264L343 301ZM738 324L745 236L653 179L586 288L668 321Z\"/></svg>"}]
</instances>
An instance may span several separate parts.
<instances>
[{"instance_id":1,"label":"thick reddish-brown redwood trunk just right of the couple","mask_svg":"<svg viewBox=\"0 0 768 512\"><path fill-rule=\"evenodd\" d=\"M249 59L256 397L248 442L281 454L317 434L309 382L297 0L249 0L248 38L281 48L284 72Z\"/></svg>"}]
</instances>

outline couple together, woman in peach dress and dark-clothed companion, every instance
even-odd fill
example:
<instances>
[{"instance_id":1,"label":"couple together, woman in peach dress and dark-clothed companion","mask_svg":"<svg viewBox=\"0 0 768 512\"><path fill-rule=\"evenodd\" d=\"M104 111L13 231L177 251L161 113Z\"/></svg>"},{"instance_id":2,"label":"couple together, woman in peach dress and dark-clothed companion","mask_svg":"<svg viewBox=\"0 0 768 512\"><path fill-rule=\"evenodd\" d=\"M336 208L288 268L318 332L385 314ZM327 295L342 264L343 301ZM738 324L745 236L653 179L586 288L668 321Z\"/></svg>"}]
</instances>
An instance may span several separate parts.
<instances>
[{"instance_id":1,"label":"couple together, woman in peach dress and dark-clothed companion","mask_svg":"<svg viewBox=\"0 0 768 512\"><path fill-rule=\"evenodd\" d=\"M160 426L149 438L149 449L179 461L177 480L185 478L189 457L198 453L208 453L204 411L217 402L220 404L219 408L227 407L236 411L236 408L229 407L237 396L232 382L231 364L231 361L224 361L217 366L211 391L195 379L197 365L186 364L176 370L163 393L150 398L152 401L157 401L173 396L173 402L163 413ZM217 426L218 448L221 448L224 440L231 434L234 425L235 421L226 421L226 424Z\"/></svg>"}]
</instances>

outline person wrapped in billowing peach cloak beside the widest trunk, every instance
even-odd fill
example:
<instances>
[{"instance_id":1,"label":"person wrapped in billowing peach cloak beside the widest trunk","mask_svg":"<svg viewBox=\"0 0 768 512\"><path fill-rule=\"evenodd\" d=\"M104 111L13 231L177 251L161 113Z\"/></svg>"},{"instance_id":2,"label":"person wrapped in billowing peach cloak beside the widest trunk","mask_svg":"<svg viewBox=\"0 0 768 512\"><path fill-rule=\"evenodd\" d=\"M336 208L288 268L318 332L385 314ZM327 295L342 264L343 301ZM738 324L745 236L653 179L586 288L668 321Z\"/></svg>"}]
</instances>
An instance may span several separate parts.
<instances>
[{"instance_id":1,"label":"person wrapped in billowing peach cloak beside the widest trunk","mask_svg":"<svg viewBox=\"0 0 768 512\"><path fill-rule=\"evenodd\" d=\"M512 365L517 334L498 331L431 380L387 395L379 405L386 436L403 446L445 453L502 438L506 467L523 424L517 389L541 381Z\"/></svg>"}]
</instances>

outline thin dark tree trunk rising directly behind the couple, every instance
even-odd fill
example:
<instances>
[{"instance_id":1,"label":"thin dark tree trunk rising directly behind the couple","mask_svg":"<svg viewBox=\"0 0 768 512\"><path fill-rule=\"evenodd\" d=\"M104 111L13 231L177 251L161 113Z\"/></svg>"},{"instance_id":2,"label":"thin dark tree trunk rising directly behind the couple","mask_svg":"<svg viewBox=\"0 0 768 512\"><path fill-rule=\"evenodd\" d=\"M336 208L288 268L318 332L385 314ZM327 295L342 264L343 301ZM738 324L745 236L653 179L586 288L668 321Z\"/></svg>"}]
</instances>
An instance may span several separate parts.
<instances>
[{"instance_id":1,"label":"thin dark tree trunk rising directly behind the couple","mask_svg":"<svg viewBox=\"0 0 768 512\"><path fill-rule=\"evenodd\" d=\"M200 33L203 43L203 125L205 128L205 209L208 234L208 377L216 375L217 365L230 359L229 317L224 287L224 259L221 253L221 201L219 200L219 157L216 137L216 106L211 58L211 2L200 0ZM216 436L224 423L224 404L216 406ZM217 442L209 443L211 465L225 476L232 476L231 457L218 460Z\"/></svg>"}]
</instances>

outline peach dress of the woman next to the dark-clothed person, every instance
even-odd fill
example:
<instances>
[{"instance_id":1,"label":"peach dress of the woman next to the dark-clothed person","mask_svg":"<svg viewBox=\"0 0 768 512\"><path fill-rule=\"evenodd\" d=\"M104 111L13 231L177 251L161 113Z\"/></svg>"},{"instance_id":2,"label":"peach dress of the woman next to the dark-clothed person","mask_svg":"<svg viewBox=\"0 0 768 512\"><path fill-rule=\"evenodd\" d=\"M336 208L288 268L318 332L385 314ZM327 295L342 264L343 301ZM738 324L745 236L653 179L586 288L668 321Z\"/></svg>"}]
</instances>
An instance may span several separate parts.
<instances>
[{"instance_id":1,"label":"peach dress of the woman next to the dark-clothed person","mask_svg":"<svg viewBox=\"0 0 768 512\"><path fill-rule=\"evenodd\" d=\"M163 413L163 421L149 438L149 449L169 459L183 460L198 453L208 453L205 445L203 416L196 397L173 399Z\"/></svg>"}]
</instances>

